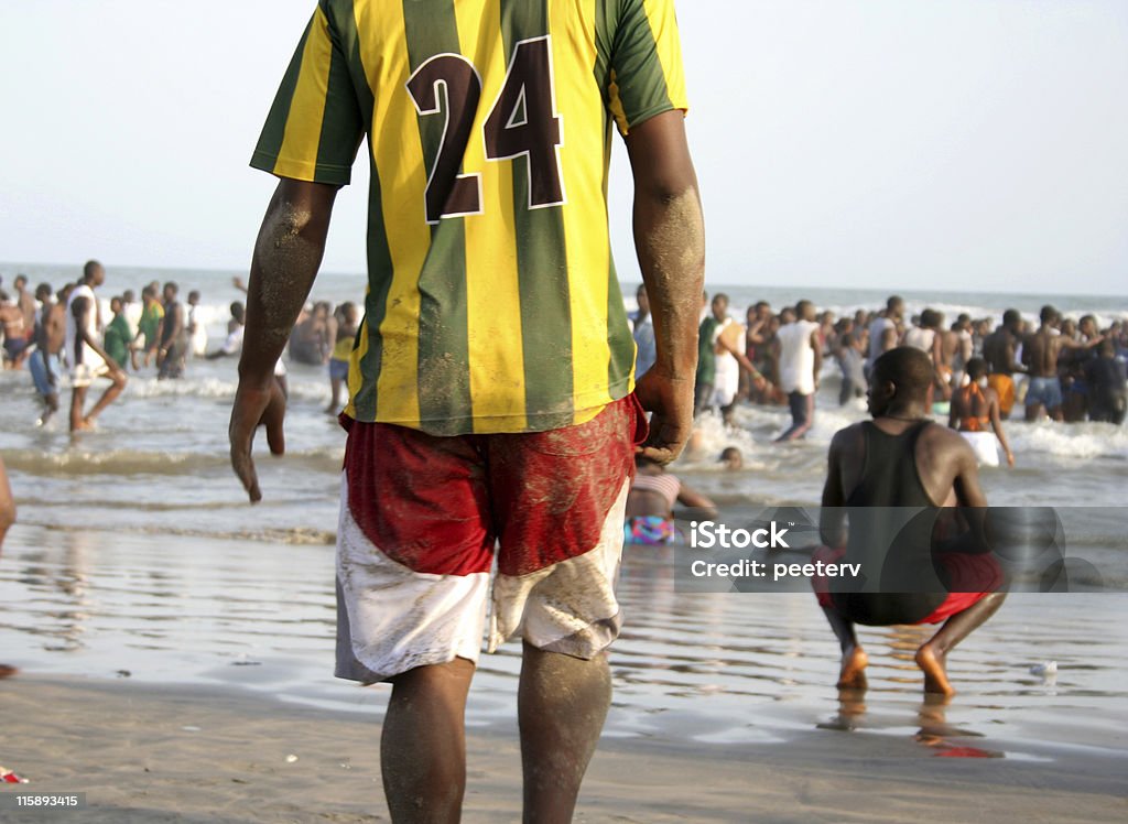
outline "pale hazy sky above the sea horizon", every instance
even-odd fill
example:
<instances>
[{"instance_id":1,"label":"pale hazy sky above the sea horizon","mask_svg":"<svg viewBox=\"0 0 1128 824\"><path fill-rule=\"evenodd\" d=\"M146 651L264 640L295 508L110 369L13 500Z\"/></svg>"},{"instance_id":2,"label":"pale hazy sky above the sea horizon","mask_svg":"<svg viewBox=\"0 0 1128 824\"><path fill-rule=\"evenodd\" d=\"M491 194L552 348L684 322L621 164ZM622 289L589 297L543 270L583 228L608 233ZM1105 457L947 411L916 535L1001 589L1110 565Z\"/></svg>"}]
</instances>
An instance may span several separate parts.
<instances>
[{"instance_id":1,"label":"pale hazy sky above the sea horizon","mask_svg":"<svg viewBox=\"0 0 1128 824\"><path fill-rule=\"evenodd\" d=\"M0 3L0 262L243 269L312 0ZM1120 295L1125 0L681 0L713 283ZM616 155L616 260L637 280ZM367 166L324 270L362 272ZM8 272L0 265L0 272Z\"/></svg>"}]
</instances>

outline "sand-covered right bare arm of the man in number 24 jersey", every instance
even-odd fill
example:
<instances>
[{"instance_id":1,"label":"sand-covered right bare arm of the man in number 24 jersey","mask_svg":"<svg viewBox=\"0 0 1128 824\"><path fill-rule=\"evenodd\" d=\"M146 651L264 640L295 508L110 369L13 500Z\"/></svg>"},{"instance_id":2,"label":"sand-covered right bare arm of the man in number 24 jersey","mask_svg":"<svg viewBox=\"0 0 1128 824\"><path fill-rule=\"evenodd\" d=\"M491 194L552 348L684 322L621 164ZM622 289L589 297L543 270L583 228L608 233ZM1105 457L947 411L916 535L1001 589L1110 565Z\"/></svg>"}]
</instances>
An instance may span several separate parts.
<instances>
[{"instance_id":1,"label":"sand-covered right bare arm of the man in number 24 jersey","mask_svg":"<svg viewBox=\"0 0 1128 824\"><path fill-rule=\"evenodd\" d=\"M636 388L643 407L654 413L642 452L664 464L678 456L693 430L705 226L681 112L636 125L626 146L635 184L635 249L658 356Z\"/></svg>"}]
</instances>

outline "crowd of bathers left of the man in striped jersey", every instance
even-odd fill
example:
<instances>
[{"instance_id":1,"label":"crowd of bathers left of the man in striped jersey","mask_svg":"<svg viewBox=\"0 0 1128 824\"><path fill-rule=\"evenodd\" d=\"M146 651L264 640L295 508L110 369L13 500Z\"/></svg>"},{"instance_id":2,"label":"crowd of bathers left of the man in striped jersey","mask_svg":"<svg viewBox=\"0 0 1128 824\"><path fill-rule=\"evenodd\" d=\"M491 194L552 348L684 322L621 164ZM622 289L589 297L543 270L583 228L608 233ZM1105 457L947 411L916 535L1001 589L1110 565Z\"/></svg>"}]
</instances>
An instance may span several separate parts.
<instances>
[{"instance_id":1,"label":"crowd of bathers left of the man in striped jersey","mask_svg":"<svg viewBox=\"0 0 1128 824\"><path fill-rule=\"evenodd\" d=\"M130 372L149 374L158 380L182 378L192 359L217 360L238 356L243 348L246 307L230 305L230 319L222 343L213 345L201 312L200 291L180 300L179 284L151 281L136 292L125 289L109 299L109 317L95 291L106 272L89 261L82 277L55 290L41 283L32 291L28 279L18 274L14 296L0 279L0 340L6 369L26 368L42 403L38 418L45 424L60 407L62 377L69 378L72 395L70 428L89 429L102 411L125 388ZM235 287L246 292L240 278ZM355 304L333 307L328 301L307 305L298 318L288 347L289 360L327 368L327 412L340 412L342 388L347 382L349 357L360 324ZM275 377L285 391L285 365L279 360ZM108 385L98 402L86 409L87 388L96 379Z\"/></svg>"}]
</instances>

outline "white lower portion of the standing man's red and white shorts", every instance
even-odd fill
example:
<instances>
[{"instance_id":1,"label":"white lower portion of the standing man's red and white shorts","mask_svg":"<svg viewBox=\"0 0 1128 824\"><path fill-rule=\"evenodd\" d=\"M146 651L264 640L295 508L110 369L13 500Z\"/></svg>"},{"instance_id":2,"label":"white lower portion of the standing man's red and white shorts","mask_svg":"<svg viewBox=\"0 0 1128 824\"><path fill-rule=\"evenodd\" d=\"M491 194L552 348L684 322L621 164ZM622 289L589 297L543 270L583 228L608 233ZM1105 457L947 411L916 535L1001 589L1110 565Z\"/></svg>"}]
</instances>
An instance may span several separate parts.
<instances>
[{"instance_id":1,"label":"white lower portion of the standing man's red and white shorts","mask_svg":"<svg viewBox=\"0 0 1128 824\"><path fill-rule=\"evenodd\" d=\"M615 598L631 481L607 514L599 543L582 555L493 581L490 651L520 634L532 646L592 658L618 635ZM349 511L341 480L337 526L336 675L365 684L455 658L477 663L491 576L415 572L388 558Z\"/></svg>"}]
</instances>

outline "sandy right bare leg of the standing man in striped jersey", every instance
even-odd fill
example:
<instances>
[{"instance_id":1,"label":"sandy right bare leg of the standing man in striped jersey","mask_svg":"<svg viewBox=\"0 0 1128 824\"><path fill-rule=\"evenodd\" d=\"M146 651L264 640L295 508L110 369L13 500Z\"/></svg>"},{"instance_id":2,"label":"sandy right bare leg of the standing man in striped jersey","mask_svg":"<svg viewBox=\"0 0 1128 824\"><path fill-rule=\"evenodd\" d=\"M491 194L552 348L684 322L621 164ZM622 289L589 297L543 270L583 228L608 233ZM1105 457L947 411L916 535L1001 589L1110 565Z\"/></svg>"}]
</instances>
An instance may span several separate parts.
<instances>
[{"instance_id":1,"label":"sandy right bare leg of the standing man in striped jersey","mask_svg":"<svg viewBox=\"0 0 1128 824\"><path fill-rule=\"evenodd\" d=\"M610 703L606 654L583 660L525 645L517 705L528 824L572 821Z\"/></svg>"}]
</instances>

